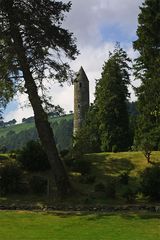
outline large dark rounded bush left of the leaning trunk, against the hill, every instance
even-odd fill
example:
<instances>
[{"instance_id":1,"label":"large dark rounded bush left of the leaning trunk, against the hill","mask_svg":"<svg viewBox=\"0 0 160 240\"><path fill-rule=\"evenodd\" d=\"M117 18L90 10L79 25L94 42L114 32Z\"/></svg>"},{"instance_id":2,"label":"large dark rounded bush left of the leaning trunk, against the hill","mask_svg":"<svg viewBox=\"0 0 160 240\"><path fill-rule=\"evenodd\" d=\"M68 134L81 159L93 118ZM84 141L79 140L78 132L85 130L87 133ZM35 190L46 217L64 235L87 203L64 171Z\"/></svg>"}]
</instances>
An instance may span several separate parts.
<instances>
[{"instance_id":1,"label":"large dark rounded bush left of the leaning trunk, against the hill","mask_svg":"<svg viewBox=\"0 0 160 240\"><path fill-rule=\"evenodd\" d=\"M19 162L28 171L45 171L50 169L46 153L39 142L30 141L20 151Z\"/></svg>"}]
</instances>

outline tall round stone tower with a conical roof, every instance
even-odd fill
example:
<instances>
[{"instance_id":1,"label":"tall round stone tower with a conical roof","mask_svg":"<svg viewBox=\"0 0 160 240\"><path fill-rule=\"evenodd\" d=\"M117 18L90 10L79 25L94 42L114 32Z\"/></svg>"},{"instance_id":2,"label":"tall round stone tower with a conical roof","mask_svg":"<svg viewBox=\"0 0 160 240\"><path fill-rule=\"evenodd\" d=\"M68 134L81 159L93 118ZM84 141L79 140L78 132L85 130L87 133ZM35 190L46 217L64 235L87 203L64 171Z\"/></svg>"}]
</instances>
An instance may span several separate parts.
<instances>
[{"instance_id":1,"label":"tall round stone tower with a conical roof","mask_svg":"<svg viewBox=\"0 0 160 240\"><path fill-rule=\"evenodd\" d=\"M89 81L81 67L74 80L74 135L81 128L89 108Z\"/></svg>"}]
</instances>

